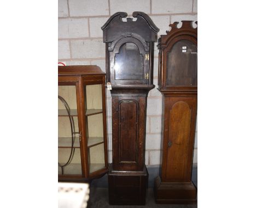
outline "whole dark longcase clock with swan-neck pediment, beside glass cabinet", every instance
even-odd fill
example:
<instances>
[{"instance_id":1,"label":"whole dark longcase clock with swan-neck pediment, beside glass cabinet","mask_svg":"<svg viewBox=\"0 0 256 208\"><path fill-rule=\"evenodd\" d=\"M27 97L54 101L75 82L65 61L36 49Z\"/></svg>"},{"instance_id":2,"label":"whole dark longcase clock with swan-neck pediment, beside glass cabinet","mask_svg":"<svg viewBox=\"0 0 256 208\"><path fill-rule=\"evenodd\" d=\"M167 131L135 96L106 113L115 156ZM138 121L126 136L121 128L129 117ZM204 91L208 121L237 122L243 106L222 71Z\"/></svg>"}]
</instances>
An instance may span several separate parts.
<instances>
[{"instance_id":1,"label":"whole dark longcase clock with swan-neck pediment, beside glass cabinet","mask_svg":"<svg viewBox=\"0 0 256 208\"><path fill-rule=\"evenodd\" d=\"M109 204L144 205L147 95L153 85L154 42L159 29L136 11L113 14L102 26L106 79L112 90L113 163L109 166Z\"/></svg>"}]
</instances>

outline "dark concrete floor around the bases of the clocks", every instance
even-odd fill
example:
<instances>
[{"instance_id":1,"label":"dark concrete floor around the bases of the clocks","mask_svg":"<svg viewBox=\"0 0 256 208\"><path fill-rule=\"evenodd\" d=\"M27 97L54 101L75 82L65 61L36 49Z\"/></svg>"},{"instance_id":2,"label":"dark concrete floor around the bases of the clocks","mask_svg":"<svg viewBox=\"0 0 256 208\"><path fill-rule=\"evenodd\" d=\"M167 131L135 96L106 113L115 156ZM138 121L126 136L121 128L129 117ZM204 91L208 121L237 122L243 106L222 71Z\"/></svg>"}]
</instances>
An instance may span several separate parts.
<instances>
[{"instance_id":1,"label":"dark concrete floor around the bases of the clocks","mask_svg":"<svg viewBox=\"0 0 256 208\"><path fill-rule=\"evenodd\" d=\"M154 207L154 208L196 208L197 205L168 205L168 204L155 204L153 188L148 188L146 205L145 206L112 206L108 204L108 189L107 188L90 188L90 199L88 202L88 208L144 208L144 207Z\"/></svg>"}]
</instances>

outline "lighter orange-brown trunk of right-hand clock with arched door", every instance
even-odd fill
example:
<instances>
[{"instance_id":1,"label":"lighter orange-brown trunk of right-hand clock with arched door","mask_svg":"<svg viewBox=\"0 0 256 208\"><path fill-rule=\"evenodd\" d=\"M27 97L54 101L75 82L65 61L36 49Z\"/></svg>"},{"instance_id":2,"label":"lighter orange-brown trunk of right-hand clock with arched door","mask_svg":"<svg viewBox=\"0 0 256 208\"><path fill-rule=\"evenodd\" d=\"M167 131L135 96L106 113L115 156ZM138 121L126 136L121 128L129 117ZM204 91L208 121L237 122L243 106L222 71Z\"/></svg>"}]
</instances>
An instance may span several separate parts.
<instances>
[{"instance_id":1,"label":"lighter orange-brown trunk of right-hand clock with arched door","mask_svg":"<svg viewBox=\"0 0 256 208\"><path fill-rule=\"evenodd\" d=\"M165 97L165 182L189 182L193 163L196 97Z\"/></svg>"}]
</instances>

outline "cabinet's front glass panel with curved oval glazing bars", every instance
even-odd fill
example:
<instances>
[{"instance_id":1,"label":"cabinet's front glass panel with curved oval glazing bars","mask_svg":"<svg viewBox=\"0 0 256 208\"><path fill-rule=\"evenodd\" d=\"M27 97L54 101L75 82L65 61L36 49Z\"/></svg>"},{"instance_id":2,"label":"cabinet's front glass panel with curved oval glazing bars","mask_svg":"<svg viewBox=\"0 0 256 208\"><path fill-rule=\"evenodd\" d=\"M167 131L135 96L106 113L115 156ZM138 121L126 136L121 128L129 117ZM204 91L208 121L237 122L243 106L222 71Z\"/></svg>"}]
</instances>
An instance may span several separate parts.
<instances>
[{"instance_id":1,"label":"cabinet's front glass panel with curved oval glazing bars","mask_svg":"<svg viewBox=\"0 0 256 208\"><path fill-rule=\"evenodd\" d=\"M58 89L58 173L82 175L75 85Z\"/></svg>"}]
</instances>

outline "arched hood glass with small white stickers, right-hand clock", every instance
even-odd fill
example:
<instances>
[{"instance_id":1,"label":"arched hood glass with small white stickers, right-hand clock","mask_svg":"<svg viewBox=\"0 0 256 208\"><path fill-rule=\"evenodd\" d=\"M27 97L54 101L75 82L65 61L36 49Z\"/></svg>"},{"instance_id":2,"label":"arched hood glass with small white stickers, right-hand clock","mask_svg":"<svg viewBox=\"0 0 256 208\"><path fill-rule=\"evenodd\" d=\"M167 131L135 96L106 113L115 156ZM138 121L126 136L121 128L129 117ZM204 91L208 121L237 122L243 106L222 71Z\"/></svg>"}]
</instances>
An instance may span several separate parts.
<instances>
[{"instance_id":1,"label":"arched hood glass with small white stickers, right-hand clock","mask_svg":"<svg viewBox=\"0 0 256 208\"><path fill-rule=\"evenodd\" d=\"M166 85L197 85L197 47L189 40L180 40L167 53Z\"/></svg>"}]
</instances>

